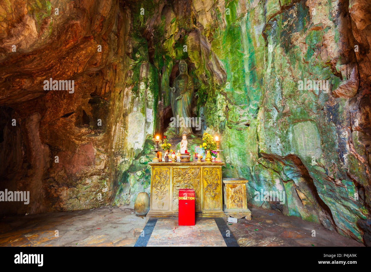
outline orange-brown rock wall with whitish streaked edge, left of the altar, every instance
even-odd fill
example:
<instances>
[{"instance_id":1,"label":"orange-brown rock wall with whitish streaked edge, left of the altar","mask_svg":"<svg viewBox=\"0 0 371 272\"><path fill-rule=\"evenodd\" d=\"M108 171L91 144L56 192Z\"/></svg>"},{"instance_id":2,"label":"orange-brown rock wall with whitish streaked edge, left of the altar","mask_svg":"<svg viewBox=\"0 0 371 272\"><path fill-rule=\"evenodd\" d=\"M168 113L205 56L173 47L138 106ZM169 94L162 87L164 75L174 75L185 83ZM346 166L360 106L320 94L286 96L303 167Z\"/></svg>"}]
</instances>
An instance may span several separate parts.
<instances>
[{"instance_id":1,"label":"orange-brown rock wall with whitish streaked edge, left of the altar","mask_svg":"<svg viewBox=\"0 0 371 272\"><path fill-rule=\"evenodd\" d=\"M29 205L1 202L0 213L110 204L154 131L148 54L131 56L119 1L34 2L0 4L0 190L30 191ZM73 80L73 93L45 90L49 78Z\"/></svg>"}]
</instances>

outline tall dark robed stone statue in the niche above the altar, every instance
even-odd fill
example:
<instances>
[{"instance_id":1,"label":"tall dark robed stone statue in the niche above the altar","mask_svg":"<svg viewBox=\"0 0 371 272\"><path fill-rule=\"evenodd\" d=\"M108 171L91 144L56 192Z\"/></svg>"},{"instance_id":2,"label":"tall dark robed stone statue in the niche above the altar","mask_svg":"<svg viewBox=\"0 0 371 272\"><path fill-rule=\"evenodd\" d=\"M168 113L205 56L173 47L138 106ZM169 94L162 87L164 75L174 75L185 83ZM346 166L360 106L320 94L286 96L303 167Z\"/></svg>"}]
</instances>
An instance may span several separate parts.
<instances>
[{"instance_id":1,"label":"tall dark robed stone statue in the niche above the altar","mask_svg":"<svg viewBox=\"0 0 371 272\"><path fill-rule=\"evenodd\" d=\"M174 80L171 88L170 101L173 117L179 120L177 134L192 134L191 130L191 102L194 91L193 79L188 75L187 63L185 60L179 62L180 74ZM177 118L178 116L178 118Z\"/></svg>"}]
</instances>

